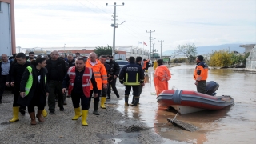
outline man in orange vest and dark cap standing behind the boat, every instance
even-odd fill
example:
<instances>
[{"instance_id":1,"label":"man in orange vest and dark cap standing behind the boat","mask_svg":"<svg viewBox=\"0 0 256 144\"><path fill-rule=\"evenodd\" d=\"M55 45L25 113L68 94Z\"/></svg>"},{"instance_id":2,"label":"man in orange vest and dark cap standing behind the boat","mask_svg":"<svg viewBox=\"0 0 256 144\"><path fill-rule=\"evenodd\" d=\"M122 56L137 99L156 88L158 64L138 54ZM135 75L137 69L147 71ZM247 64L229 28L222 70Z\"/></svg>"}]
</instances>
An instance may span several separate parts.
<instances>
[{"instance_id":1,"label":"man in orange vest and dark cap standing behind the boat","mask_svg":"<svg viewBox=\"0 0 256 144\"><path fill-rule=\"evenodd\" d=\"M198 55L195 59L197 66L194 69L194 84L197 86L197 91L206 94L206 80L208 77L208 66L203 61L203 56Z\"/></svg>"}]
</instances>

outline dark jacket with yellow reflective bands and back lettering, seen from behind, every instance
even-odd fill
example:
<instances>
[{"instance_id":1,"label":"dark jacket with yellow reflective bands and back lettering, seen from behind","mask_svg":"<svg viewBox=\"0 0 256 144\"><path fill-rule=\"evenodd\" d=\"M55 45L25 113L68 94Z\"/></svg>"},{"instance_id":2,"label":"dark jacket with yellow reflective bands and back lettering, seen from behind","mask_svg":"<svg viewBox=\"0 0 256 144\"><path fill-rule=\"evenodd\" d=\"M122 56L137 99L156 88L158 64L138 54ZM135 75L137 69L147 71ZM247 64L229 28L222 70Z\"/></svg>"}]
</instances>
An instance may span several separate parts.
<instances>
[{"instance_id":1,"label":"dark jacket with yellow reflective bands and back lettering, seen from behind","mask_svg":"<svg viewBox=\"0 0 256 144\"><path fill-rule=\"evenodd\" d=\"M138 66L134 62L130 62L130 64L123 66L119 75L119 81L128 86L136 86L138 84L135 83L138 82L142 84L144 82L144 72L142 70L142 66Z\"/></svg>"}]
</instances>

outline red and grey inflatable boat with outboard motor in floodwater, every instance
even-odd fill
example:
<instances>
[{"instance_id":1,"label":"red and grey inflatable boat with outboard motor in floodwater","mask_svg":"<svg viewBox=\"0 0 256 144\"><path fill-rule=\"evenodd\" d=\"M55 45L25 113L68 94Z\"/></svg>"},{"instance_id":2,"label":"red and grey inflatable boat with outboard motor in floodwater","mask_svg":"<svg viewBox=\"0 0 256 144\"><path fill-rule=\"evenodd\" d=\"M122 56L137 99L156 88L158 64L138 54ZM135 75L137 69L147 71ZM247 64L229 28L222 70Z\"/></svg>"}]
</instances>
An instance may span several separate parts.
<instances>
[{"instance_id":1,"label":"red and grey inflatable boat with outboard motor in floodwater","mask_svg":"<svg viewBox=\"0 0 256 144\"><path fill-rule=\"evenodd\" d=\"M215 96L218 83L207 82L206 94L192 90L164 90L158 95L157 101L160 105L173 107L180 114L188 114L201 110L221 110L234 103L229 95Z\"/></svg>"}]
</instances>

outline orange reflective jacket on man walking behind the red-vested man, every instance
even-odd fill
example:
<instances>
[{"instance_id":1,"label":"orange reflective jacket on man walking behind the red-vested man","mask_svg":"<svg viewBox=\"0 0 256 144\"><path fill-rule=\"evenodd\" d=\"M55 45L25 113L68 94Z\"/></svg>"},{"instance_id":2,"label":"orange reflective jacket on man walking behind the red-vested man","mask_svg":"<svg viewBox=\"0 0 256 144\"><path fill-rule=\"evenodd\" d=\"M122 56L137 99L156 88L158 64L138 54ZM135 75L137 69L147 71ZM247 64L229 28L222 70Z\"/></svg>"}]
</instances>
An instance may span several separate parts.
<instances>
[{"instance_id":1,"label":"orange reflective jacket on man walking behind the red-vested man","mask_svg":"<svg viewBox=\"0 0 256 144\"><path fill-rule=\"evenodd\" d=\"M94 78L97 82L97 88L98 90L102 90L102 84L107 84L107 74L105 66L100 62L98 59L96 59L97 63L92 66L90 64L90 58L87 59L86 67L90 67L93 69L94 72ZM90 90L93 90L93 85L90 85Z\"/></svg>"}]
</instances>

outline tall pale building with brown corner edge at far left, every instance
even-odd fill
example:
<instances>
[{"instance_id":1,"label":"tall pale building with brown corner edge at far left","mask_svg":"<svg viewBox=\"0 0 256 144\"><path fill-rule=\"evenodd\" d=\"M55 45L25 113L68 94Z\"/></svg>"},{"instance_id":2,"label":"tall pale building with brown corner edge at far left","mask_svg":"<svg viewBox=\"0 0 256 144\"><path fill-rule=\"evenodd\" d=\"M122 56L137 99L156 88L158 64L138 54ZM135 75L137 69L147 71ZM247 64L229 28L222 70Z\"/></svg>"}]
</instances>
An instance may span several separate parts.
<instances>
[{"instance_id":1,"label":"tall pale building with brown corner edge at far left","mask_svg":"<svg viewBox=\"0 0 256 144\"><path fill-rule=\"evenodd\" d=\"M0 0L0 50L8 56L16 53L14 0Z\"/></svg>"}]
</instances>

